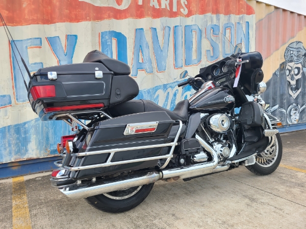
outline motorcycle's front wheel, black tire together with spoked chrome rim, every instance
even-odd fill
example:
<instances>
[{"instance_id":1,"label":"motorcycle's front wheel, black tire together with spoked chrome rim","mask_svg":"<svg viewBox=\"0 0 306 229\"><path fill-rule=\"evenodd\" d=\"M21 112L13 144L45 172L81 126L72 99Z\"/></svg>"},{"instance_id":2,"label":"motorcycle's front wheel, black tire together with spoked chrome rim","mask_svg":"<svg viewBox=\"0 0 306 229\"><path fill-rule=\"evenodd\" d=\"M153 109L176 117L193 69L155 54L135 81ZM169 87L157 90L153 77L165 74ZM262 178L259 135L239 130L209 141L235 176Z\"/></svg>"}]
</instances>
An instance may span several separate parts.
<instances>
[{"instance_id":1,"label":"motorcycle's front wheel, black tire together with spoked chrome rim","mask_svg":"<svg viewBox=\"0 0 306 229\"><path fill-rule=\"evenodd\" d=\"M266 148L264 152L255 156L255 164L245 166L253 174L269 175L276 170L279 163L281 163L283 155L283 145L281 135L275 134L273 144Z\"/></svg>"}]
</instances>

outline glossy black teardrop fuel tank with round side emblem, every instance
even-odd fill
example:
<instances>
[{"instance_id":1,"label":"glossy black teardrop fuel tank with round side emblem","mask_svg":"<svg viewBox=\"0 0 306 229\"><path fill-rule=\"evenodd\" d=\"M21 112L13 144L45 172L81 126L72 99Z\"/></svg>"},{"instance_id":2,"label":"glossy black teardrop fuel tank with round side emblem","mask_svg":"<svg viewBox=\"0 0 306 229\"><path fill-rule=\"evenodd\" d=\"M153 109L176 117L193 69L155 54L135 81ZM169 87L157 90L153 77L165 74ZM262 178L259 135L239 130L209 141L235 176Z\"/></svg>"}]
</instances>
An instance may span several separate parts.
<instances>
[{"instance_id":1,"label":"glossy black teardrop fuel tank with round side emblem","mask_svg":"<svg viewBox=\"0 0 306 229\"><path fill-rule=\"evenodd\" d=\"M213 88L200 94L191 103L189 109L202 111L230 111L235 106L233 92L227 88Z\"/></svg>"}]
</instances>

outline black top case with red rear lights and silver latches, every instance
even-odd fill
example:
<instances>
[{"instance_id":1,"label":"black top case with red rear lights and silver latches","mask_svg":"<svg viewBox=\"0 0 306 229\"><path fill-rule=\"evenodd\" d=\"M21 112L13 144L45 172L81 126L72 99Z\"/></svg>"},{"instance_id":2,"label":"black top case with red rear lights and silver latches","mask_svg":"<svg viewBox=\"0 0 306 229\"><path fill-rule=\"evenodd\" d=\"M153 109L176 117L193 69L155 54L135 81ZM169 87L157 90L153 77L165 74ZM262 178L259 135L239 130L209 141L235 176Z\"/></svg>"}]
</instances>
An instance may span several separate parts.
<instances>
[{"instance_id":1,"label":"black top case with red rear lights and silver latches","mask_svg":"<svg viewBox=\"0 0 306 229\"><path fill-rule=\"evenodd\" d=\"M30 80L28 98L39 118L47 121L61 113L103 109L138 92L129 75L114 75L102 63L81 63L39 69Z\"/></svg>"}]
</instances>

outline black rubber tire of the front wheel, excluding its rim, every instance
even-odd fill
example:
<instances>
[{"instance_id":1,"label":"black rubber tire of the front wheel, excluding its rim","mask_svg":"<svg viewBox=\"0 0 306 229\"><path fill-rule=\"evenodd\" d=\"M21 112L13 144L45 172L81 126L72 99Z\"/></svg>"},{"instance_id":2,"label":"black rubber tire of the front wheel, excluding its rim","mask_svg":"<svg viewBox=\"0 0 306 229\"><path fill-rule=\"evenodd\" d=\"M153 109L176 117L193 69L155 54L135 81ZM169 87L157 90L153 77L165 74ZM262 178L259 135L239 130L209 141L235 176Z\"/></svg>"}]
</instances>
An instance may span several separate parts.
<instances>
[{"instance_id":1,"label":"black rubber tire of the front wheel, excluding its rim","mask_svg":"<svg viewBox=\"0 0 306 229\"><path fill-rule=\"evenodd\" d=\"M277 153L274 163L271 164L270 166L262 166L258 161L256 161L256 163L253 165L245 166L253 174L256 174L259 176L272 174L278 167L279 163L281 163L282 155L283 155L283 144L282 144L281 135L279 135L279 133L276 134L275 140L277 141L277 144L278 144L278 153Z\"/></svg>"}]
</instances>

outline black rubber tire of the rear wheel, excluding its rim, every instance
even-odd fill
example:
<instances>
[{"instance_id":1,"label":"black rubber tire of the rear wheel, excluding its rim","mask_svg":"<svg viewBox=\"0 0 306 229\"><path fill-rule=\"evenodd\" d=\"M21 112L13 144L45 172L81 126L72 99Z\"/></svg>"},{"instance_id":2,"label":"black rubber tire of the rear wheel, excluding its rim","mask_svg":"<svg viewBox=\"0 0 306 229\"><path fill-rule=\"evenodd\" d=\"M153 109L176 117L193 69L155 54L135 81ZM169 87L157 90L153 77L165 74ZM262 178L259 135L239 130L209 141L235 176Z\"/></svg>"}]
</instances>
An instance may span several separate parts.
<instances>
[{"instance_id":1,"label":"black rubber tire of the rear wheel, excluding its rim","mask_svg":"<svg viewBox=\"0 0 306 229\"><path fill-rule=\"evenodd\" d=\"M85 198L86 202L94 208L104 212L125 212L140 205L152 190L154 183L143 185L140 190L129 198L112 199L104 194Z\"/></svg>"}]
</instances>

